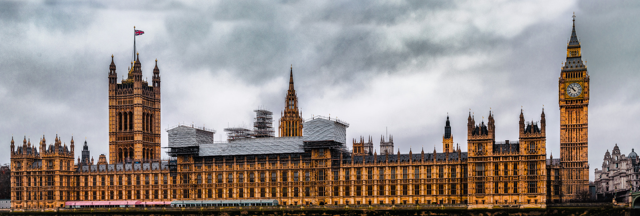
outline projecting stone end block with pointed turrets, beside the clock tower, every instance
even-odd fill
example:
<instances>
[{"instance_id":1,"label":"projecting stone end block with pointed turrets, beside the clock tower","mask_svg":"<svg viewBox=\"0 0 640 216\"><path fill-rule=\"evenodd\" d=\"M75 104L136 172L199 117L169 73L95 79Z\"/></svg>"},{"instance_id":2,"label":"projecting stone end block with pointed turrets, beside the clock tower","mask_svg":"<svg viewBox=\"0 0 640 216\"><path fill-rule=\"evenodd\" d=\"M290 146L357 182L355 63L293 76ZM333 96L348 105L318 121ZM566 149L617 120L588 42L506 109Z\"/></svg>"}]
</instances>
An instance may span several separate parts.
<instances>
[{"instance_id":1,"label":"projecting stone end block with pointed turrets, beside the clock tower","mask_svg":"<svg viewBox=\"0 0 640 216\"><path fill-rule=\"evenodd\" d=\"M495 121L476 125L469 114L467 148L469 203L474 207L493 204L524 204L540 207L547 202L545 112L537 122L524 121L520 112L520 140L495 141Z\"/></svg>"}]
</instances>

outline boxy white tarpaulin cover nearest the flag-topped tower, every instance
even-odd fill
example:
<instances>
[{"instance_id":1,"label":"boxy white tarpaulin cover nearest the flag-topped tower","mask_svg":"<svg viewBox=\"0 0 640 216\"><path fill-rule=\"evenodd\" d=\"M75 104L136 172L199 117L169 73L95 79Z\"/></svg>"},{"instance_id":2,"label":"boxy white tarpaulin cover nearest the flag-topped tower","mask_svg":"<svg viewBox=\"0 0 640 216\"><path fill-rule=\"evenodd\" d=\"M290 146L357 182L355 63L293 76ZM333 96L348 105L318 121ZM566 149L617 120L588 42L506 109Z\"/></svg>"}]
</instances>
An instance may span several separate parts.
<instances>
[{"instance_id":1,"label":"boxy white tarpaulin cover nearest the flag-topped tower","mask_svg":"<svg viewBox=\"0 0 640 216\"><path fill-rule=\"evenodd\" d=\"M180 125L167 131L169 133L169 147L198 146L214 141L214 132Z\"/></svg>"}]
</instances>

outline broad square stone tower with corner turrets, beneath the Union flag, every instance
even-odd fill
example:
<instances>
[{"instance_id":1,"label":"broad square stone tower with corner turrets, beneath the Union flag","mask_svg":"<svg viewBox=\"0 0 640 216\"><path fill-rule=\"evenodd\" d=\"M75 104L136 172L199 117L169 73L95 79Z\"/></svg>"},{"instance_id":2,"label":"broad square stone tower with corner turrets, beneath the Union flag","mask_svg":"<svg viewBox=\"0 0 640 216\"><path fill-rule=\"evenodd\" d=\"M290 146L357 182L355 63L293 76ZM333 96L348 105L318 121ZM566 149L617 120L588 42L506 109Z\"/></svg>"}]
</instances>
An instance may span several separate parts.
<instances>
[{"instance_id":1,"label":"broad square stone tower with corner turrets, beneath the Union flag","mask_svg":"<svg viewBox=\"0 0 640 216\"><path fill-rule=\"evenodd\" d=\"M140 56L127 79L117 83L116 65L109 66L109 164L160 158L160 70L157 59L152 86L142 79Z\"/></svg>"}]
</instances>

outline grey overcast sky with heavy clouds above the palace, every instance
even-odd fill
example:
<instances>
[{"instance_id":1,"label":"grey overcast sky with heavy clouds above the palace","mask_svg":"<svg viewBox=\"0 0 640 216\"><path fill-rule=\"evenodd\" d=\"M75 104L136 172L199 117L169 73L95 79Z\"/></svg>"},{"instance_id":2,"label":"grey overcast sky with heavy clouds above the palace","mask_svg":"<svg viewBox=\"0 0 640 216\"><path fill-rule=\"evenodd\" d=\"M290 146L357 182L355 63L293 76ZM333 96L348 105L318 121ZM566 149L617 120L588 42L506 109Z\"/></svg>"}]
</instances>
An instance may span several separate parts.
<instances>
[{"instance_id":1,"label":"grey overcast sky with heavy clouds above the palace","mask_svg":"<svg viewBox=\"0 0 640 216\"><path fill-rule=\"evenodd\" d=\"M544 105L557 158L557 79L575 12L593 179L607 149L628 154L640 138L638 11L637 1L0 0L0 148L12 135L68 144L73 134L95 159L108 155L109 63L113 54L125 75L136 26L143 77L158 60L163 128L193 122L225 139L253 109L284 109L293 65L303 118L347 121L349 141L372 135L377 148L388 131L403 153L440 152L448 113L466 151L469 111L481 121L491 110L497 140L517 140L521 107L539 121Z\"/></svg>"}]
</instances>

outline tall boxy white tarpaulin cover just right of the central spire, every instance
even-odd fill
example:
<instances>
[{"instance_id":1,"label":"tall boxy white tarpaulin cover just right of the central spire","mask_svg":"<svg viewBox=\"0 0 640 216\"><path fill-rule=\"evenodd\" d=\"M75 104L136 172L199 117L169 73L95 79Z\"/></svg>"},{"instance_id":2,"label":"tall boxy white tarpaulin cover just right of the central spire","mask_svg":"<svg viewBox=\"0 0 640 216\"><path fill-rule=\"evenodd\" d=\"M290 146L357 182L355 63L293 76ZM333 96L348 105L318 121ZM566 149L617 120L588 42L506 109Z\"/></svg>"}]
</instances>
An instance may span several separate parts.
<instances>
[{"instance_id":1,"label":"tall boxy white tarpaulin cover just right of the central spire","mask_svg":"<svg viewBox=\"0 0 640 216\"><path fill-rule=\"evenodd\" d=\"M307 141L336 141L347 143L347 128L345 125L324 118L305 121L303 128L305 142Z\"/></svg>"}]
</instances>

